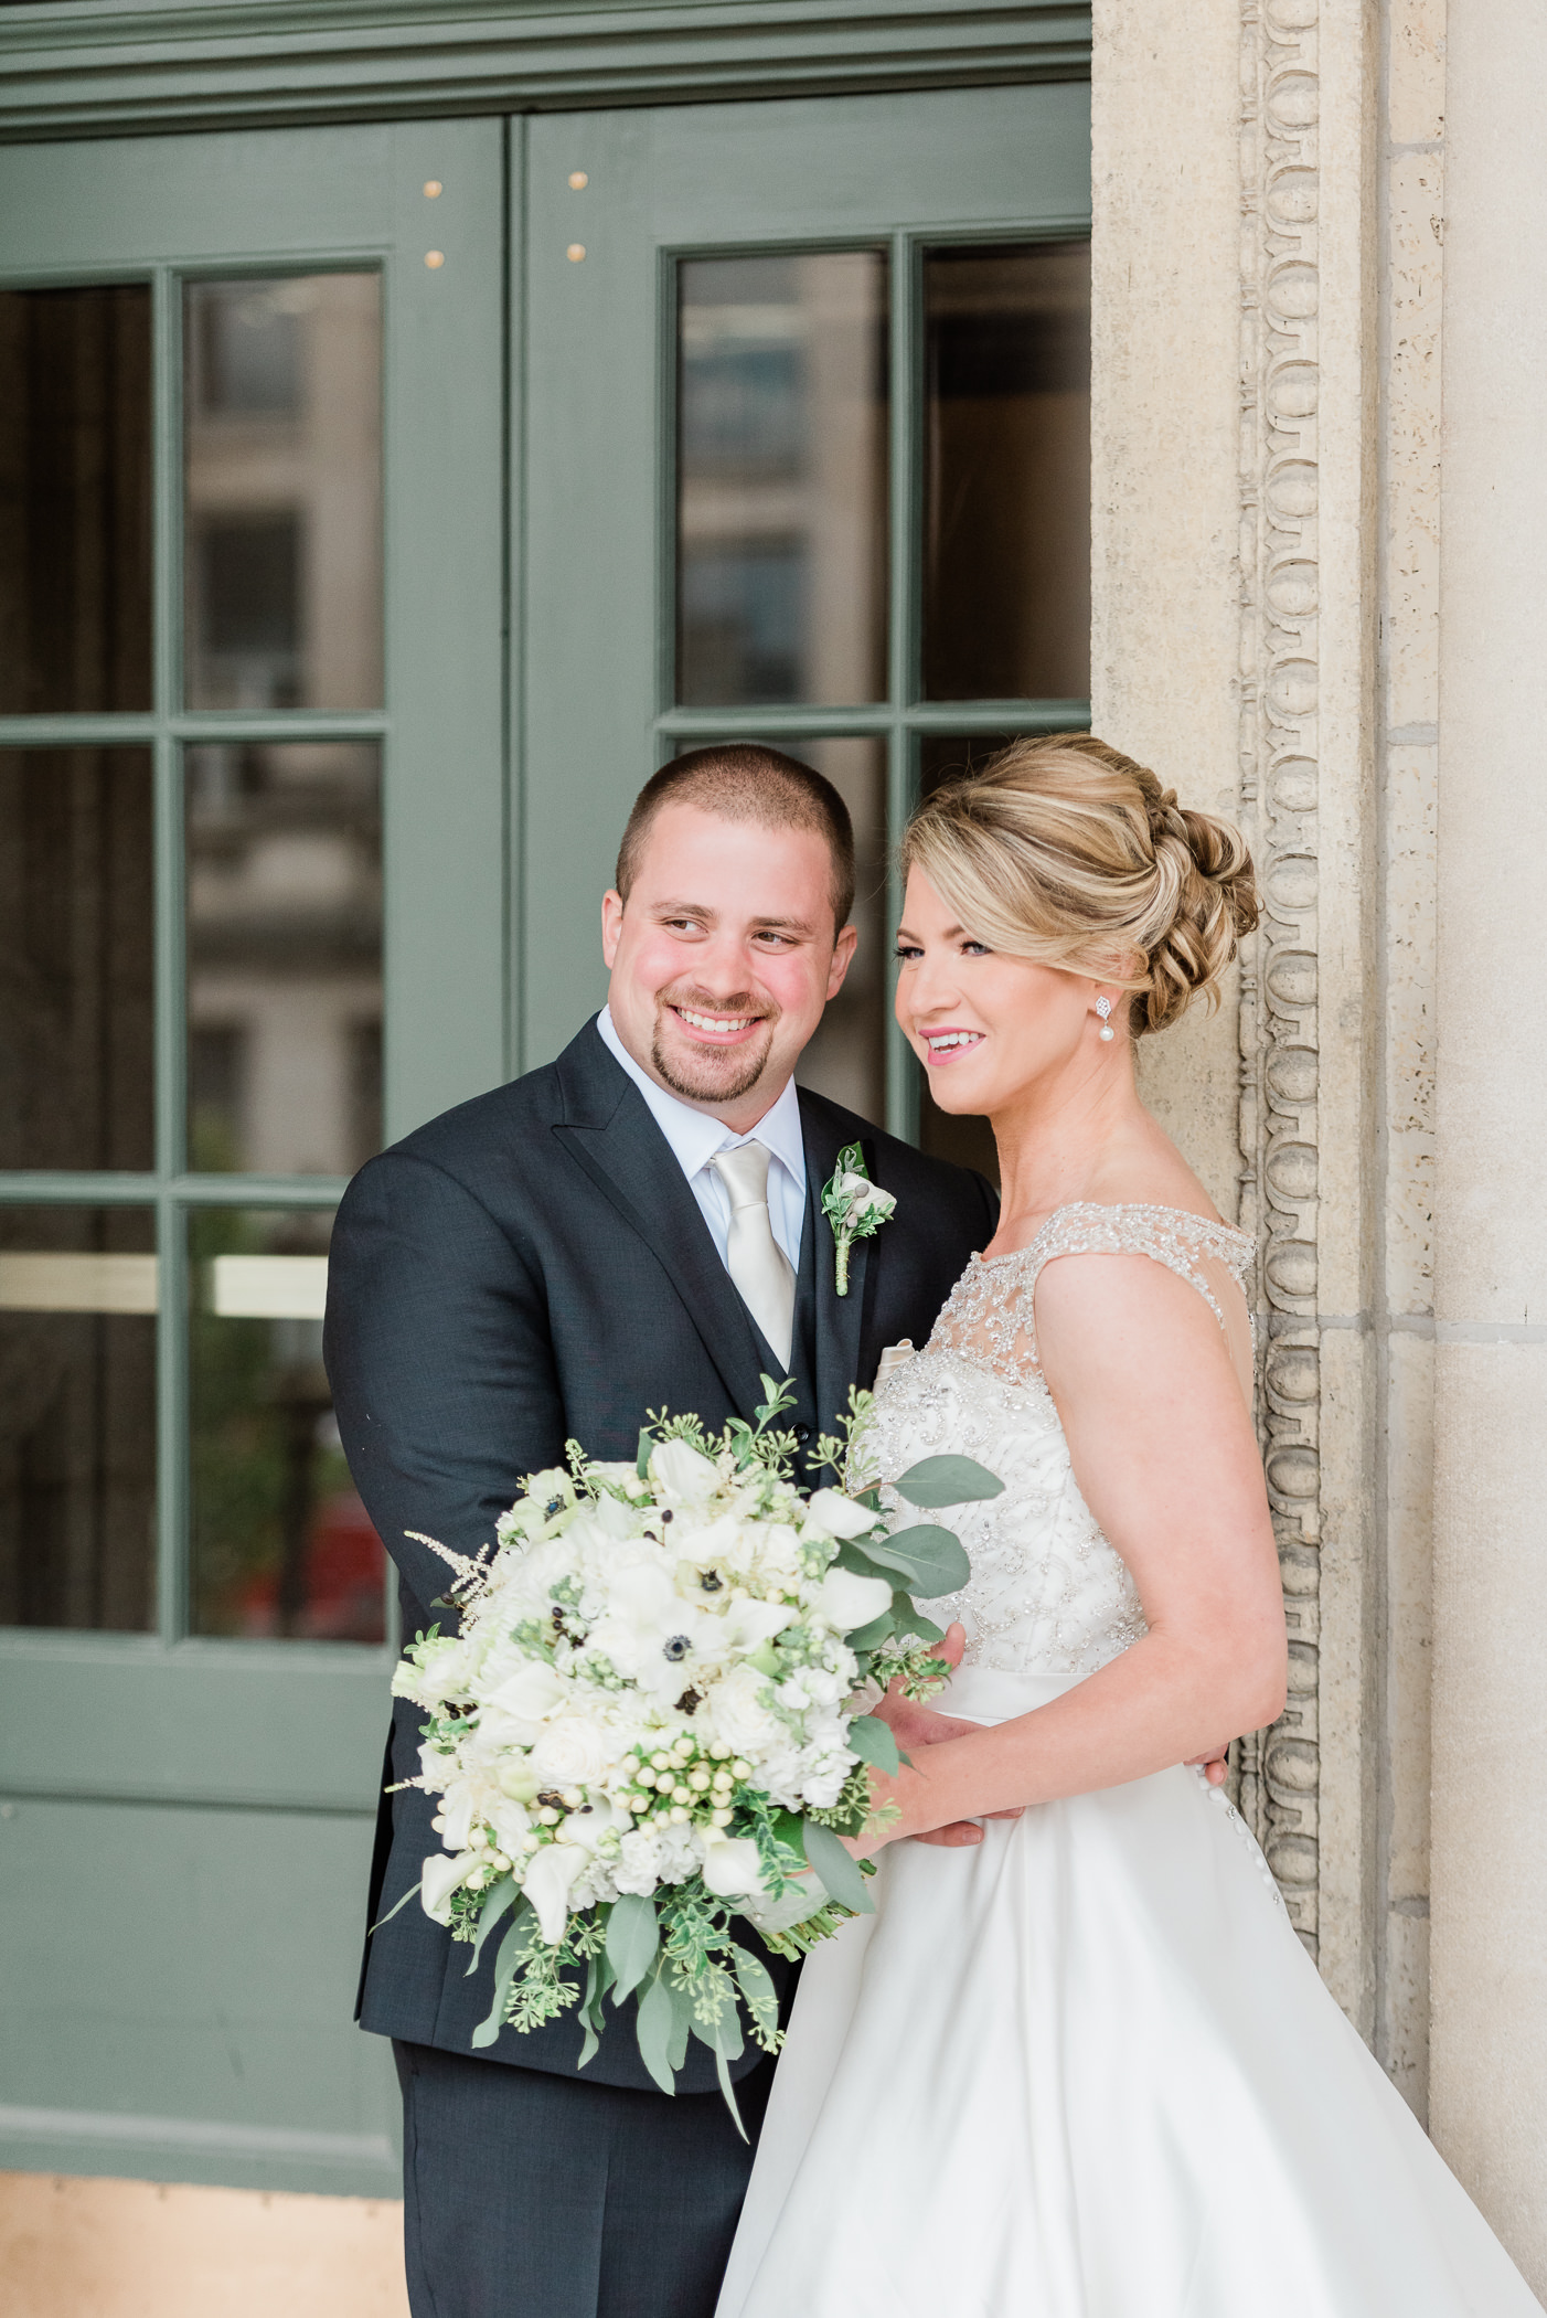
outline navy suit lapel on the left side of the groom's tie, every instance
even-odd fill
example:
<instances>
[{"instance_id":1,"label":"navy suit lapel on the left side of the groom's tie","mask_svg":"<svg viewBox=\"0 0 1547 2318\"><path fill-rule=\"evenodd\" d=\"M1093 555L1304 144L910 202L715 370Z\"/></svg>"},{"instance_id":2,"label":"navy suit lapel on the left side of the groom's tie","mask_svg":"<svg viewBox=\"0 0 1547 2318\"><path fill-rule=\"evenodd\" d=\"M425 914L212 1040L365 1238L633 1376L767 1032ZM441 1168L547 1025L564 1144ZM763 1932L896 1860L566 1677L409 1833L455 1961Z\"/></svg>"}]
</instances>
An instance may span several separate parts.
<instances>
[{"instance_id":1,"label":"navy suit lapel on the left side of the groom's tie","mask_svg":"<svg viewBox=\"0 0 1547 2318\"><path fill-rule=\"evenodd\" d=\"M660 1261L734 1407L750 1419L764 1354L644 1096L593 1025L558 1057L558 1080L565 1117L553 1138Z\"/></svg>"}]
</instances>

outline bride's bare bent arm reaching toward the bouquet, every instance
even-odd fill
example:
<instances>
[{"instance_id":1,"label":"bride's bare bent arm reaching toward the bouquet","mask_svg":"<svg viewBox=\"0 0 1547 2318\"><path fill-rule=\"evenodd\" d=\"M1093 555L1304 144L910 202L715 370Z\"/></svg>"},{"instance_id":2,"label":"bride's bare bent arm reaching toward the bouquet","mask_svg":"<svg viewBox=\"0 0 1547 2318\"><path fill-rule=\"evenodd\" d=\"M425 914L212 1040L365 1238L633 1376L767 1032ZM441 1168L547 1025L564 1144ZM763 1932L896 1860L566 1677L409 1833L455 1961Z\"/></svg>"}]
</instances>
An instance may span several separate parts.
<instances>
[{"instance_id":1,"label":"bride's bare bent arm reaching toward the bouquet","mask_svg":"<svg viewBox=\"0 0 1547 2318\"><path fill-rule=\"evenodd\" d=\"M1119 1787L1283 1708L1278 1553L1218 1319L1146 1256L1084 1254L1047 1266L1035 1321L1075 1479L1132 1572L1149 1632L1049 1706L878 1776L878 1801L901 1810L887 1843Z\"/></svg>"}]
</instances>

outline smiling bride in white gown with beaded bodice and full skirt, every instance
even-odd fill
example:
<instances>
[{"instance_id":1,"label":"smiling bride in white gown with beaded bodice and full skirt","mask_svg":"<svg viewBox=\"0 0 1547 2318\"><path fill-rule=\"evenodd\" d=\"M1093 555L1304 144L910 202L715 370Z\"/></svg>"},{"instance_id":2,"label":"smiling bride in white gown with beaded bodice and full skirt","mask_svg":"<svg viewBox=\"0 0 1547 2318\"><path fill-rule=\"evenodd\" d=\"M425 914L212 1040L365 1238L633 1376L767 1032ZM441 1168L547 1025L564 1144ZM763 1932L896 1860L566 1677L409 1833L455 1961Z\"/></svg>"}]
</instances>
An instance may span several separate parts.
<instances>
[{"instance_id":1,"label":"smiling bride in white gown with beaded bodice and full skirt","mask_svg":"<svg viewBox=\"0 0 1547 2318\"><path fill-rule=\"evenodd\" d=\"M1132 1043L1214 997L1246 846L1056 737L929 797L903 867L896 1015L940 1108L989 1115L1003 1212L873 1446L1005 1493L956 1516L956 1720L889 1704L875 1915L801 1975L718 2318L1526 2318L1188 1769L1278 1715L1285 1627L1251 1242Z\"/></svg>"}]
</instances>

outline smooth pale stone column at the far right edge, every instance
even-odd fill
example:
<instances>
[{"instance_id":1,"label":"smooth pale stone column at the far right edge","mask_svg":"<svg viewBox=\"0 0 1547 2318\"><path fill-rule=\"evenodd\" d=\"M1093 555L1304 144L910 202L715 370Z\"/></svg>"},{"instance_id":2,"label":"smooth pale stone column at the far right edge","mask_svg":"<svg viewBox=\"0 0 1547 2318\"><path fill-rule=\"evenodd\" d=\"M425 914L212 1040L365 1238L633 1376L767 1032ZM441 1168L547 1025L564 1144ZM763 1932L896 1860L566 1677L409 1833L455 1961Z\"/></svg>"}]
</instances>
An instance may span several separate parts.
<instances>
[{"instance_id":1,"label":"smooth pale stone column at the far right edge","mask_svg":"<svg viewBox=\"0 0 1547 2318\"><path fill-rule=\"evenodd\" d=\"M1547 86L1450 12L1438 818L1434 2137L1547 2290Z\"/></svg>"}]
</instances>

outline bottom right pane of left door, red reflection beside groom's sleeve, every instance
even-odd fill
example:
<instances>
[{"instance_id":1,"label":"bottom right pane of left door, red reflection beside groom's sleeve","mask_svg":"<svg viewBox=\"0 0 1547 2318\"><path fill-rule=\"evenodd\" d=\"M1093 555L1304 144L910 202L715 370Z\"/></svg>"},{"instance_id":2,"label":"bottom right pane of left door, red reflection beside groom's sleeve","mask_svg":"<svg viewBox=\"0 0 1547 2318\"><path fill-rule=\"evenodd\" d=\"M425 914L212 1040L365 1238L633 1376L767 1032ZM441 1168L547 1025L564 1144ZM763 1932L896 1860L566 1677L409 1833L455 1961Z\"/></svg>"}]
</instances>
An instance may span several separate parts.
<instances>
[{"instance_id":1,"label":"bottom right pane of left door, red reflection beside groom's sleeve","mask_svg":"<svg viewBox=\"0 0 1547 2318\"><path fill-rule=\"evenodd\" d=\"M382 1641L387 1558L322 1370L331 1215L190 1217L195 1634Z\"/></svg>"}]
</instances>

